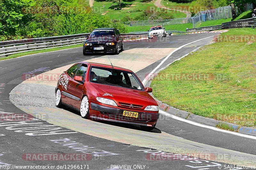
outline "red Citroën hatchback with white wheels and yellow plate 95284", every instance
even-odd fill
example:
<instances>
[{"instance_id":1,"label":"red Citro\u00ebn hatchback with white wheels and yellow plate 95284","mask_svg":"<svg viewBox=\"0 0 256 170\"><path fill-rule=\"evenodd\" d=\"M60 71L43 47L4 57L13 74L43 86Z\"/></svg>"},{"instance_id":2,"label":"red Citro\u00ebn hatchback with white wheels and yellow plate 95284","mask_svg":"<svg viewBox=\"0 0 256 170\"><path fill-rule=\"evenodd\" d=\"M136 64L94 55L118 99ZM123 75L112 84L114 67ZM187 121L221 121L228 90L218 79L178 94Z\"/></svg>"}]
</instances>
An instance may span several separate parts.
<instances>
[{"instance_id":1,"label":"red Citro\u00ebn hatchback with white wheels and yellow plate 95284","mask_svg":"<svg viewBox=\"0 0 256 170\"><path fill-rule=\"evenodd\" d=\"M55 104L71 106L83 118L140 125L152 130L159 118L156 101L131 71L116 66L80 62L59 77Z\"/></svg>"}]
</instances>

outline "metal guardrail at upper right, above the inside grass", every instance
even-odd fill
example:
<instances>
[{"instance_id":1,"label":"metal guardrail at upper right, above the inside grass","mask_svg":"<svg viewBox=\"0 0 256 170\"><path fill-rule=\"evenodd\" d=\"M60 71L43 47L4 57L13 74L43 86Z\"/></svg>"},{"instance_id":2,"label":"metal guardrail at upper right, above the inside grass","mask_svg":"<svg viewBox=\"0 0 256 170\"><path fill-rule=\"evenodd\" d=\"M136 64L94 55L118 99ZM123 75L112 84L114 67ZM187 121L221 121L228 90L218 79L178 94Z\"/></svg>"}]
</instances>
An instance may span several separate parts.
<instances>
[{"instance_id":1,"label":"metal guardrail at upper right, above the inside grass","mask_svg":"<svg viewBox=\"0 0 256 170\"><path fill-rule=\"evenodd\" d=\"M195 31L213 31L218 29L242 28L242 27L256 27L256 18L241 19L237 21L226 22L217 26L204 26L204 27L186 29L186 32L191 33Z\"/></svg>"}]
</instances>

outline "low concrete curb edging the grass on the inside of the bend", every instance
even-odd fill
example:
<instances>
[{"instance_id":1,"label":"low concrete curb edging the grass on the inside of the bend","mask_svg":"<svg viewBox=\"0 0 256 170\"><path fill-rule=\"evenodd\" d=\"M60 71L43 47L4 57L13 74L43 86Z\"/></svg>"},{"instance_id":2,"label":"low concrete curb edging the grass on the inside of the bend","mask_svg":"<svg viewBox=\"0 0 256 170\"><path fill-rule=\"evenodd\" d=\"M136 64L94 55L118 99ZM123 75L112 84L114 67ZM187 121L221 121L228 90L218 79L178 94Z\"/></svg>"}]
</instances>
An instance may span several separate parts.
<instances>
[{"instance_id":1,"label":"low concrete curb edging the grass on the inside of the bend","mask_svg":"<svg viewBox=\"0 0 256 170\"><path fill-rule=\"evenodd\" d=\"M189 54L187 54L187 55L189 55ZM183 57L185 57L187 55L184 55L181 58L183 58ZM179 58L179 59L181 59L181 58ZM174 63L174 62L172 62L172 63ZM171 64L168 64L166 67L164 67L161 70L166 69ZM158 74L159 71L157 71L156 74ZM154 75L154 77L155 76L156 75ZM153 80L153 78L151 78L149 80L148 86L150 86L152 80ZM250 127L245 127L245 126L241 127L241 126L236 125L234 123L229 123L229 122L219 121L219 120L215 120L215 119L208 118L208 117L198 116L198 115L195 115L193 113L189 113L189 112L177 109L175 107L171 107L171 106L169 106L169 105L167 105L165 103L162 103L162 101L160 101L160 100L158 100L158 99L156 99L154 97L153 93L150 93L150 95L156 100L156 102L157 102L157 104L158 104L160 109L164 110L165 112L167 112L167 113L169 113L171 115L179 116L179 117L182 117L184 119L187 119L187 120L190 120L190 121L193 121L193 122L197 122L197 123L201 123L201 124L208 125L208 126L213 126L213 127L217 127L217 125L228 125L228 127L230 129L234 129L235 132L246 134L246 135L256 136L256 128L250 128Z\"/></svg>"}]
</instances>

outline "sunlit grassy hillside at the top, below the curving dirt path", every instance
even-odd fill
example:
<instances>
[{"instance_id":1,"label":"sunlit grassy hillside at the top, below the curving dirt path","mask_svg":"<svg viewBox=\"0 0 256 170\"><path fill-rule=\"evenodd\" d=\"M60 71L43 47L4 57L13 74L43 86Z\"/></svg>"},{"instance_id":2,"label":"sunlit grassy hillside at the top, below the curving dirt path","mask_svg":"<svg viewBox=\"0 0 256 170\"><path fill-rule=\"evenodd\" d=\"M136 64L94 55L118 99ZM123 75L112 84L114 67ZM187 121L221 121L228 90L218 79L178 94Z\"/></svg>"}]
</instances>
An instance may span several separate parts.
<instances>
[{"instance_id":1,"label":"sunlit grassy hillside at the top, below the curving dirt path","mask_svg":"<svg viewBox=\"0 0 256 170\"><path fill-rule=\"evenodd\" d=\"M152 7L158 13L157 18L170 19L170 18L185 18L186 14L182 12L173 12L170 10L163 10L156 8L153 1L143 2L143 0L133 0L133 1L122 1L124 4L121 6L122 9L119 10L118 4L111 1L101 1L96 0L93 3L93 10L101 15L108 16L110 19L116 19L120 21L129 20L147 20L148 17L144 17L144 11L150 10ZM143 2L143 3L142 3ZM113 6L111 5L113 4ZM103 7L102 5L106 5ZM114 8L117 10L114 10ZM128 12L129 11L129 12Z\"/></svg>"}]
</instances>

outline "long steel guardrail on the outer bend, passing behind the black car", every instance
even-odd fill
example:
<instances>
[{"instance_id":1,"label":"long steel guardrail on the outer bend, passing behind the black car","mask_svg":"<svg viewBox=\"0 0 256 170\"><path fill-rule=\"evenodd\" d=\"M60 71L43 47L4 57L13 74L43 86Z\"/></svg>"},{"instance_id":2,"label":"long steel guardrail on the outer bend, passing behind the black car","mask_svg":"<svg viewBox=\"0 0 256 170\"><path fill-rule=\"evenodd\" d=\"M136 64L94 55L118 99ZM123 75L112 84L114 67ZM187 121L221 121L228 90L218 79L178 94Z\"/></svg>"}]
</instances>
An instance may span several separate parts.
<instances>
[{"instance_id":1,"label":"long steel guardrail on the outer bend, passing behind the black car","mask_svg":"<svg viewBox=\"0 0 256 170\"><path fill-rule=\"evenodd\" d=\"M179 32L180 31L166 31ZM36 51L45 48L65 47L74 44L82 44L90 33L64 35L55 37L32 38L0 42L0 57L18 54L26 51ZM148 37L148 32L134 32L121 34L124 40Z\"/></svg>"}]
</instances>

